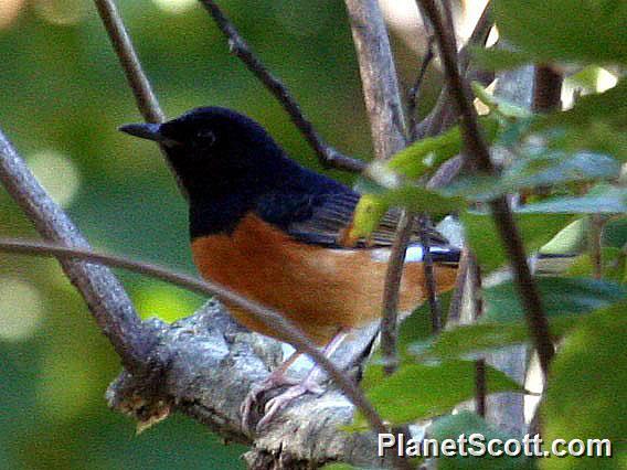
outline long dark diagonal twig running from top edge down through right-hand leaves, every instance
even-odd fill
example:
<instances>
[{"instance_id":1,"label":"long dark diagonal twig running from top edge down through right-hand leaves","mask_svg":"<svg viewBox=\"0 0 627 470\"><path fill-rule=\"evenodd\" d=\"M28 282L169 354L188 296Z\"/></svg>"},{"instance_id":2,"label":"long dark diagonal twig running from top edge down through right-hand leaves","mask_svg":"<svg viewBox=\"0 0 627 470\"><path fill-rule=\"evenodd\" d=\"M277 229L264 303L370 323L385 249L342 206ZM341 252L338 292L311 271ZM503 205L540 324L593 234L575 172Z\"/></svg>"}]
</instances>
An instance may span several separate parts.
<instances>
[{"instance_id":1,"label":"long dark diagonal twig running from top edge down through right-hand leaves","mask_svg":"<svg viewBox=\"0 0 627 470\"><path fill-rule=\"evenodd\" d=\"M448 31L443 25L440 14L433 0L421 1L434 26L450 95L454 98L457 111L461 116L460 127L466 154L472 159L479 171L496 174L488 146L479 128L477 113L466 93L466 85L458 70L454 32ZM510 257L513 276L525 309L528 328L538 350L542 371L546 375L554 355L554 349L538 286L527 264L522 239L516 227L516 222L506 197L498 197L491 201L490 209L501 241Z\"/></svg>"}]
</instances>

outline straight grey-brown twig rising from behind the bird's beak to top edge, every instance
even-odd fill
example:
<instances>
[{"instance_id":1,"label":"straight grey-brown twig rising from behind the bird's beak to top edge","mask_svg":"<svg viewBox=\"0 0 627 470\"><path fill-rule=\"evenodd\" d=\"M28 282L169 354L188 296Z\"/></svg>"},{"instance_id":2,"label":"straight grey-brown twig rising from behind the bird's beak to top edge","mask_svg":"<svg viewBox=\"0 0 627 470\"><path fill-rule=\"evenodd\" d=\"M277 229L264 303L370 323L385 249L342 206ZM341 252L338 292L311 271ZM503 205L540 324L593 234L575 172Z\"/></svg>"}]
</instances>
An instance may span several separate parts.
<instances>
[{"instance_id":1,"label":"straight grey-brown twig rising from behind the bird's beak to top edge","mask_svg":"<svg viewBox=\"0 0 627 470\"><path fill-rule=\"evenodd\" d=\"M152 92L152 86L150 86L150 82L141 68L141 63L115 2L113 0L94 0L94 3L96 3L98 14L119 58L128 85L135 95L141 116L144 116L147 122L162 122L166 119L166 115L161 110L159 102Z\"/></svg>"}]
</instances>

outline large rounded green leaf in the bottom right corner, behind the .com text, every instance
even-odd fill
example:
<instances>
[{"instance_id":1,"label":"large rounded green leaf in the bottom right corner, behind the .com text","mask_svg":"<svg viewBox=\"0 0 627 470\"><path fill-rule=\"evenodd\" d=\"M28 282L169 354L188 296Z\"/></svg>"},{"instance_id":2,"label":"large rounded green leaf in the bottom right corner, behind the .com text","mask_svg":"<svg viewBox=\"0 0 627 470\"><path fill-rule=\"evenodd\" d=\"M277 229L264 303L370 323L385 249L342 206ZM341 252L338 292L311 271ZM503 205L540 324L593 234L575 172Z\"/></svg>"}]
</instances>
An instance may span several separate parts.
<instances>
[{"instance_id":1,"label":"large rounded green leaf in the bottom right corner, behind the .com text","mask_svg":"<svg viewBox=\"0 0 627 470\"><path fill-rule=\"evenodd\" d=\"M597 311L566 337L551 365L542 405L546 441L610 439L613 457L543 459L542 468L626 468L626 311L627 302Z\"/></svg>"}]
</instances>

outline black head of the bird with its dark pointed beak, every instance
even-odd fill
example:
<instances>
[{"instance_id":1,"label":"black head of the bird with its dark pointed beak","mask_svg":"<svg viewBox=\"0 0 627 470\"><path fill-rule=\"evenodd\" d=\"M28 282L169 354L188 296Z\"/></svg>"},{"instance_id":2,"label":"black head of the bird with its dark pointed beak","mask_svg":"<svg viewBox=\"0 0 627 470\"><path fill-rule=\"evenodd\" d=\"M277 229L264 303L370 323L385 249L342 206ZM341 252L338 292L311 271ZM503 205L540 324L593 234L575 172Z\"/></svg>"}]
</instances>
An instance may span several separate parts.
<instances>
[{"instance_id":1,"label":"black head of the bird with its dark pointed beak","mask_svg":"<svg viewBox=\"0 0 627 470\"><path fill-rule=\"evenodd\" d=\"M192 200L263 192L291 165L262 126L231 109L195 108L161 125L120 130L160 142Z\"/></svg>"}]
</instances>

